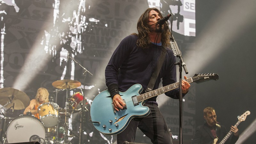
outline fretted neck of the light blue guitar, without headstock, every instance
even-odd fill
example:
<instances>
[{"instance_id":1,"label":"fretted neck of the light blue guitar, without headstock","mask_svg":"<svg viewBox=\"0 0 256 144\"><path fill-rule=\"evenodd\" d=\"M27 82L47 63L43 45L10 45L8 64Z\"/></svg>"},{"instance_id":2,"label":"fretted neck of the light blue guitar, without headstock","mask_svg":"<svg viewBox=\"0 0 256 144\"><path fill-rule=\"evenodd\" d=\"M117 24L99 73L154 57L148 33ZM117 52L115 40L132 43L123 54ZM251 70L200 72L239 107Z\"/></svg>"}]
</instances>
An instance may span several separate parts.
<instances>
[{"instance_id":1,"label":"fretted neck of the light blue guitar, without headstock","mask_svg":"<svg viewBox=\"0 0 256 144\"><path fill-rule=\"evenodd\" d=\"M190 78L185 79L185 81L187 81L188 83L192 83L193 80L195 80L195 79L198 79L198 77L196 77L196 76L195 77L190 77ZM155 96L157 96L159 94L162 94L164 92L168 92L168 91L171 91L173 89L176 89L179 86L180 86L180 82L176 82L176 83L164 86L162 88L159 88L159 89L156 89L156 90L138 95L137 99L138 99L139 102L141 102L143 100L147 100L149 98L155 97Z\"/></svg>"}]
</instances>

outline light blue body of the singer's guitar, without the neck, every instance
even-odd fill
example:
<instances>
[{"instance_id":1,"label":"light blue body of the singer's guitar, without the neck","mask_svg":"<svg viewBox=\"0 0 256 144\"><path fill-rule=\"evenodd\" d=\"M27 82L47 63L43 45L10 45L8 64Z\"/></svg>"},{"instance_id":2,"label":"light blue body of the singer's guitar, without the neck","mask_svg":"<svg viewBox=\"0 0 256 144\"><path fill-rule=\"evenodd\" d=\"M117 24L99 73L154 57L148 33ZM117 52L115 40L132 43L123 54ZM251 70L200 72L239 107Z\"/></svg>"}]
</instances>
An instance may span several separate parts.
<instances>
[{"instance_id":1,"label":"light blue body of the singer's guitar, without the neck","mask_svg":"<svg viewBox=\"0 0 256 144\"><path fill-rule=\"evenodd\" d=\"M127 127L132 118L148 116L150 110L148 107L143 106L146 101L142 101L135 106L132 101L132 96L139 95L142 90L143 88L140 84L134 84L126 92L120 92L122 99L126 103L126 109L116 112L114 112L108 90L98 94L91 105L91 120L94 127L105 135L116 135Z\"/></svg>"}]
</instances>

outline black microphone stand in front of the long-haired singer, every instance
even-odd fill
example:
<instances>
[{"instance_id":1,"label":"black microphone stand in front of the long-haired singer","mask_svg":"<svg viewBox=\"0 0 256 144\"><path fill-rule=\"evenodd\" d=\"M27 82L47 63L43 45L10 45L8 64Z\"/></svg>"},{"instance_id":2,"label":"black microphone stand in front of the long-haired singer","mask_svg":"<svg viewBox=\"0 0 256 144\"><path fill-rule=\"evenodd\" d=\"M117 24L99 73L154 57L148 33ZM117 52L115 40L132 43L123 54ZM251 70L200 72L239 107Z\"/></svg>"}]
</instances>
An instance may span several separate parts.
<instances>
[{"instance_id":1,"label":"black microphone stand in front of the long-haired singer","mask_svg":"<svg viewBox=\"0 0 256 144\"><path fill-rule=\"evenodd\" d=\"M172 20L171 20L172 22ZM181 56L181 52L179 50L179 47L178 47L178 44L177 42L175 41L173 35L172 35L172 28L169 27L169 23L166 21L166 24L167 24L167 27L171 33L171 37L170 37L170 43L171 43L171 48L172 48L172 51L174 52L174 56L176 57L179 57L180 58L180 61L178 63L175 63L175 65L179 65L179 72L180 72L180 95L179 95L179 102L180 102L180 144L183 143L183 137L182 137L182 90L181 90L181 81L182 81L182 67L184 68L184 71L186 74L188 74L188 70L187 70L187 67L186 67L186 64ZM171 25L172 27L172 25Z\"/></svg>"}]
</instances>

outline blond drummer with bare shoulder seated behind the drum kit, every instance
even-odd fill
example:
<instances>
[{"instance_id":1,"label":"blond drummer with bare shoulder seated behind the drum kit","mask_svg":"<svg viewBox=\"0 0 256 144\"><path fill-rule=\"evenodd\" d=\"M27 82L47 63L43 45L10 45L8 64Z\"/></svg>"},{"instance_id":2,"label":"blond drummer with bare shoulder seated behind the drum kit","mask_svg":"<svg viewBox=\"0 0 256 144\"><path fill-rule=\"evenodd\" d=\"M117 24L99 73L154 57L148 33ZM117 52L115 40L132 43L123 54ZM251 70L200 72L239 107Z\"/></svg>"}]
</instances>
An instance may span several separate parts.
<instances>
[{"instance_id":1,"label":"blond drummer with bare shoulder seated behind the drum kit","mask_svg":"<svg viewBox=\"0 0 256 144\"><path fill-rule=\"evenodd\" d=\"M24 115L32 114L39 119L39 114L37 110L38 106L40 106L45 102L49 102L49 92L47 89L40 87L37 90L35 99L30 100L30 104L27 108L25 108L23 114Z\"/></svg>"}]
</instances>

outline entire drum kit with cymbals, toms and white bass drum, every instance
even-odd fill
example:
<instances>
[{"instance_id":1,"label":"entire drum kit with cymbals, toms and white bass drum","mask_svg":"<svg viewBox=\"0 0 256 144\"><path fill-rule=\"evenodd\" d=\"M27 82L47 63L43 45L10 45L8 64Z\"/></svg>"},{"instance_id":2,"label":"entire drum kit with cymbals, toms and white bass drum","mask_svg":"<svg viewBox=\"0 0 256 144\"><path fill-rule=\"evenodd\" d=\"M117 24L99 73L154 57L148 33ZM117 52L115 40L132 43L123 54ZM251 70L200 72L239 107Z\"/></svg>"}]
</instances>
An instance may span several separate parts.
<instances>
[{"instance_id":1,"label":"entire drum kit with cymbals, toms and white bass drum","mask_svg":"<svg viewBox=\"0 0 256 144\"><path fill-rule=\"evenodd\" d=\"M60 108L54 102L43 103L38 106L40 119L34 115L19 115L15 118L5 117L4 108L8 110L25 109L28 107L30 99L26 93L19 90L13 88L0 89L0 104L2 105L0 107L0 115L2 115L0 143L38 141L42 144L71 144L68 138L73 136L68 135L72 133L69 129L68 118L73 112L82 112L81 109L86 99L82 91L82 93L74 93L72 97L68 95L68 92L81 86L81 83L76 80L64 79L53 82L52 86L62 90L66 89L65 108Z\"/></svg>"}]
</instances>

